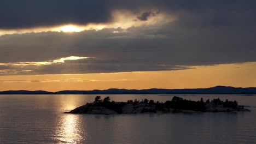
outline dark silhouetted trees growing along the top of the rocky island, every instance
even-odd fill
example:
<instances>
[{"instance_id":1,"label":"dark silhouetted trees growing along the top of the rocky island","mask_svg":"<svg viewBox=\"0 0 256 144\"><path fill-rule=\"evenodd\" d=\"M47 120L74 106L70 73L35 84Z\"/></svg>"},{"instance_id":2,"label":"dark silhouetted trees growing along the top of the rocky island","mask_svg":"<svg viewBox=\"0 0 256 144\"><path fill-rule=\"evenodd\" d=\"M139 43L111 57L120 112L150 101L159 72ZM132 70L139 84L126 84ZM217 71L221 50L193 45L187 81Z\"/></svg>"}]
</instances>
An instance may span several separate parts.
<instances>
[{"instance_id":1,"label":"dark silhouetted trees growing along the top of the rocky island","mask_svg":"<svg viewBox=\"0 0 256 144\"><path fill-rule=\"evenodd\" d=\"M230 107L235 109L237 107L237 101L229 101L225 100L222 101L219 98L213 99L213 100L206 100L203 101L203 98L201 98L200 101L193 101L193 100L187 100L180 97L174 96L172 100L167 100L165 103L154 101L154 100L148 100L148 99L142 99L141 101L135 99L135 100L127 100L127 102L115 102L111 101L109 97L101 99L100 96L97 96L95 98L94 103L88 103L89 106L103 106L107 107L110 110L116 111L118 113L121 113L121 107L125 106L126 104L132 104L132 105L138 105L138 104L146 104L149 106L156 106L159 111L164 111L165 109L174 109L174 110L193 110L193 111L206 111L206 104L213 104L213 105L223 105L224 107ZM156 111L147 111L147 112L156 112Z\"/></svg>"}]
</instances>

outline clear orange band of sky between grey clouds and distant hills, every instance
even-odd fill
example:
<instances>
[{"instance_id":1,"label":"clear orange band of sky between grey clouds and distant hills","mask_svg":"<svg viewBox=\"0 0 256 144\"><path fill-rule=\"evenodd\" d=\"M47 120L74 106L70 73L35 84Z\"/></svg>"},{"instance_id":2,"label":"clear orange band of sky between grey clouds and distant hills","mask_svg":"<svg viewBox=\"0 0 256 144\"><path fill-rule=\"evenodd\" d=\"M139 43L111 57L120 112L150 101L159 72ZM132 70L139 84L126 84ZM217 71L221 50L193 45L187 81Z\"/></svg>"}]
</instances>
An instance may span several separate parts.
<instances>
[{"instance_id":1,"label":"clear orange band of sky between grey clouds and distant hills","mask_svg":"<svg viewBox=\"0 0 256 144\"><path fill-rule=\"evenodd\" d=\"M204 88L217 85L256 87L256 63L200 66L171 71L131 73L0 76L0 91L108 88Z\"/></svg>"}]
</instances>

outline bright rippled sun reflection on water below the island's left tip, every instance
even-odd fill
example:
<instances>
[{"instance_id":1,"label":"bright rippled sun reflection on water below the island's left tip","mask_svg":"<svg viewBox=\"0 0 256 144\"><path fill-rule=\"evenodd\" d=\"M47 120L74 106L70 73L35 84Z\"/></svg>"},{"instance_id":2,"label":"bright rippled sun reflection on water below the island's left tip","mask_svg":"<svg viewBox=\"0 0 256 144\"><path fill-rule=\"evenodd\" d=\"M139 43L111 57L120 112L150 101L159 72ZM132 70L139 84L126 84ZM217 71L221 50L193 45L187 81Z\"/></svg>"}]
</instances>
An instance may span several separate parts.
<instances>
[{"instance_id":1,"label":"bright rippled sun reflection on water below the island's left tip","mask_svg":"<svg viewBox=\"0 0 256 144\"><path fill-rule=\"evenodd\" d=\"M56 139L60 143L80 143L86 137L84 131L79 127L80 118L78 115L63 115L60 121L59 130L56 131Z\"/></svg>"}]
</instances>

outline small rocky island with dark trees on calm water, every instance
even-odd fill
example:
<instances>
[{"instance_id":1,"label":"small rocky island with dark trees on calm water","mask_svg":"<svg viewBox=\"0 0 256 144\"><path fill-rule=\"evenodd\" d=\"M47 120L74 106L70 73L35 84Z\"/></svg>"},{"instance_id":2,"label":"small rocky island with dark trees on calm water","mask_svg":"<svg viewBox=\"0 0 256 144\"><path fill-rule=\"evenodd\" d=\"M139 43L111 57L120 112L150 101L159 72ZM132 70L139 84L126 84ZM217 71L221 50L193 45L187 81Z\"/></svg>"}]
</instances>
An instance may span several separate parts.
<instances>
[{"instance_id":1,"label":"small rocky island with dark trees on calm water","mask_svg":"<svg viewBox=\"0 0 256 144\"><path fill-rule=\"evenodd\" d=\"M127 100L127 102L110 101L109 97L101 99L96 96L94 103L75 108L65 113L87 113L98 115L128 114L128 113L200 113L200 112L247 112L244 106L238 105L237 101L222 101L219 98L203 101L186 100L174 96L165 103L142 99L141 101Z\"/></svg>"}]
</instances>

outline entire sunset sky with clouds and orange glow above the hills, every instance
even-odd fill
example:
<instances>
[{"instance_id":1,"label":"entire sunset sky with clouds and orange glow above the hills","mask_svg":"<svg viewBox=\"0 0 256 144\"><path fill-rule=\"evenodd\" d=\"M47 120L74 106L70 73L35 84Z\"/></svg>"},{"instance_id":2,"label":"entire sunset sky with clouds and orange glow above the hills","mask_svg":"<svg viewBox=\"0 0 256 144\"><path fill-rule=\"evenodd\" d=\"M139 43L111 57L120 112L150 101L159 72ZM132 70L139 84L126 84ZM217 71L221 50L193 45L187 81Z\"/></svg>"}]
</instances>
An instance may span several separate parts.
<instances>
[{"instance_id":1,"label":"entire sunset sky with clouds and orange glow above the hills","mask_svg":"<svg viewBox=\"0 0 256 144\"><path fill-rule=\"evenodd\" d=\"M0 91L256 87L255 4L3 0Z\"/></svg>"}]
</instances>

